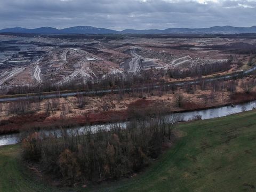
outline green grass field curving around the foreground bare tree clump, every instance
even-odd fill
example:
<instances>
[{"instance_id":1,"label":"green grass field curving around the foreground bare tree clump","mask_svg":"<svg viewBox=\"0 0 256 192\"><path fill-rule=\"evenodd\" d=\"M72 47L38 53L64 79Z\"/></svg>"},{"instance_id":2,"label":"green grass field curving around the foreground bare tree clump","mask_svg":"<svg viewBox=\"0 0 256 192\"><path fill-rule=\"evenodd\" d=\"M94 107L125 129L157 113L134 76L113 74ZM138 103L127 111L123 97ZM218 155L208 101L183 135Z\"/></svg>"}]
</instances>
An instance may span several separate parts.
<instances>
[{"instance_id":1,"label":"green grass field curving around the foreground bare tree clump","mask_svg":"<svg viewBox=\"0 0 256 192\"><path fill-rule=\"evenodd\" d=\"M183 137L145 172L72 191L256 191L255 110L182 123L177 130ZM1 192L58 191L22 169L19 153L19 145L0 148Z\"/></svg>"}]
</instances>

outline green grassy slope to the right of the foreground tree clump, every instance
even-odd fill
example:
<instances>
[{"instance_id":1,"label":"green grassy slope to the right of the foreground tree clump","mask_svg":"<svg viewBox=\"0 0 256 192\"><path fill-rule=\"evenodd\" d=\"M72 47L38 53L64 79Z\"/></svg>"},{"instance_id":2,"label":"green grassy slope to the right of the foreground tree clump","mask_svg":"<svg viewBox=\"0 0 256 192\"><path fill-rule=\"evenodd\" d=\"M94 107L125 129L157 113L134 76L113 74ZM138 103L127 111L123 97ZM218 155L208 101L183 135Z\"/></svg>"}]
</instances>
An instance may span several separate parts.
<instances>
[{"instance_id":1,"label":"green grassy slope to the right of the foreground tree clump","mask_svg":"<svg viewBox=\"0 0 256 192\"><path fill-rule=\"evenodd\" d=\"M256 187L256 112L181 124L186 136L118 191L242 191Z\"/></svg>"}]
</instances>

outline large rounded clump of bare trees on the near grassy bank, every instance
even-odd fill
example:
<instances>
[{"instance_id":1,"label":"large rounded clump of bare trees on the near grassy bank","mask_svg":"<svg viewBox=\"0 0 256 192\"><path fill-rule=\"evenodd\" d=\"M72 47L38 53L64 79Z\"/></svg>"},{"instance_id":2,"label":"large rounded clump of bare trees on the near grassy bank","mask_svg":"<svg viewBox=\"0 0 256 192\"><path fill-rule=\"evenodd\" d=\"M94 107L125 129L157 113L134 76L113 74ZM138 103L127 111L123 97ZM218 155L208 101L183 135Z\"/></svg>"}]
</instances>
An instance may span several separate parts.
<instances>
[{"instance_id":1,"label":"large rounded clump of bare trees on the near grassy bank","mask_svg":"<svg viewBox=\"0 0 256 192\"><path fill-rule=\"evenodd\" d=\"M127 123L33 133L23 155L71 185L133 174L156 158L171 139L173 117L147 117Z\"/></svg>"}]
</instances>

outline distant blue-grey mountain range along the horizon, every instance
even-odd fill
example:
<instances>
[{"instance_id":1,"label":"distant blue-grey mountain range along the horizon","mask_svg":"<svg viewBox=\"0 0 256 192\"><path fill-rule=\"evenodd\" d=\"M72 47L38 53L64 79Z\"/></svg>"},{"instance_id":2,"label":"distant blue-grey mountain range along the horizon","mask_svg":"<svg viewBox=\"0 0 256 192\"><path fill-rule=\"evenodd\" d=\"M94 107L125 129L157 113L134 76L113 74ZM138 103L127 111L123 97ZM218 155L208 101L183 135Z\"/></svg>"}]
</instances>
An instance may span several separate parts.
<instances>
[{"instance_id":1,"label":"distant blue-grey mountain range along the horizon","mask_svg":"<svg viewBox=\"0 0 256 192\"><path fill-rule=\"evenodd\" d=\"M21 27L7 28L0 30L0 33L26 33L26 34L242 34L256 33L256 26L252 27L232 27L215 26L209 28L169 28L169 29L147 29L135 30L125 29L123 31L111 30L106 28L97 28L91 26L76 26L65 29L56 29L52 27L41 27L36 29L26 29Z\"/></svg>"}]
</instances>

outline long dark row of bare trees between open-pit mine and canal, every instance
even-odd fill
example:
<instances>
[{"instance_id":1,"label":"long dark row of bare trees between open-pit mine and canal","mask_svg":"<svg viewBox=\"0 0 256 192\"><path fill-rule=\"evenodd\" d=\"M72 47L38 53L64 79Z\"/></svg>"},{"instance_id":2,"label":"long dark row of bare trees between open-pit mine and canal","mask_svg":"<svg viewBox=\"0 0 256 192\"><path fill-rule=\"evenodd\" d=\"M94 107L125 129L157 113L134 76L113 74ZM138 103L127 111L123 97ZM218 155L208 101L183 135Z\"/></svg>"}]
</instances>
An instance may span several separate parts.
<instances>
[{"instance_id":1,"label":"long dark row of bare trees between open-pit mine and canal","mask_svg":"<svg viewBox=\"0 0 256 192\"><path fill-rule=\"evenodd\" d=\"M63 84L53 84L52 82L45 81L42 84L37 86L29 85L29 86L13 86L9 89L9 94L26 94L26 93L36 93L38 95L38 100L42 100L43 92L55 92L56 95L60 95L61 91L65 90L84 90L84 91L92 91L91 94L100 95L104 94L102 92L97 92L99 90L115 90L115 92L119 93L119 100L122 99L122 95L124 93L133 93L139 92L137 89L142 85L148 87L148 89L153 90L156 84L161 85L161 89L164 91L165 89L165 81L162 79L164 76L169 76L172 78L185 78L188 76L201 78L202 75L212 74L217 71L226 71L230 69L230 62L217 62L213 65L203 65L197 67L191 67L189 69L169 69L167 71L160 70L148 70L141 71L140 74L126 74L125 77L123 74L109 74L106 75L104 79L99 80L91 80L85 81L82 78L71 79L69 82L65 82ZM201 78L202 79L202 78ZM193 85L187 84L187 90ZM204 85L203 85L204 86ZM169 83L170 87L170 83ZM173 90L177 89L175 85L171 85ZM192 89L190 89L192 90ZM148 90L146 90L148 91ZM81 98L79 95L77 96L78 100ZM78 101L80 108L83 108L85 103L82 100Z\"/></svg>"}]
</instances>

